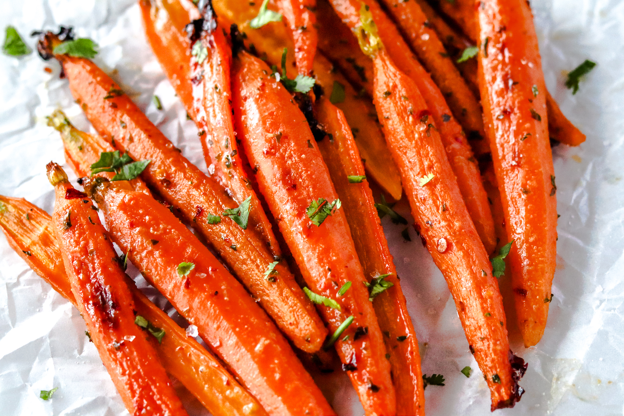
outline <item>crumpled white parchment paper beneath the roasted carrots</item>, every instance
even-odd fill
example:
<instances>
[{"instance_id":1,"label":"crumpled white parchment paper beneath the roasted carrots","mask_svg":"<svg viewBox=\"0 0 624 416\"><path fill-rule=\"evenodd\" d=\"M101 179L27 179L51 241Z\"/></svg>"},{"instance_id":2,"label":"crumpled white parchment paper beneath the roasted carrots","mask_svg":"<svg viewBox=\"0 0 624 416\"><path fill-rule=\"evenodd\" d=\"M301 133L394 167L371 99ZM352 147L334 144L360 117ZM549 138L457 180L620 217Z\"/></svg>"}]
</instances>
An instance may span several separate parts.
<instances>
[{"instance_id":1,"label":"crumpled white parchment paper beneath the roasted carrots","mask_svg":"<svg viewBox=\"0 0 624 416\"><path fill-rule=\"evenodd\" d=\"M515 409L499 415L622 415L624 413L624 1L534 0L549 90L563 112L587 134L578 148L554 149L558 223L555 297L545 336L524 349L512 334L514 351L529 362L520 383L526 390ZM0 2L0 28L34 29L71 25L80 37L100 44L95 61L183 154L205 170L195 127L173 94L145 42L139 7L133 1L26 0ZM33 39L27 43L34 46ZM598 66L577 95L563 87L565 70L584 59ZM52 74L44 72L51 67ZM56 131L44 117L62 107L80 128L90 128L73 103L56 62L36 54L0 55L0 193L25 197L52 211L45 177L50 160L64 162ZM150 103L157 94L165 107ZM72 177L74 178L74 177ZM405 204L398 211L407 216ZM422 369L444 374L444 387L426 390L431 416L487 415L489 392L467 351L446 283L412 231L384 219L386 235L421 341ZM504 279L504 278L503 278ZM140 286L144 286L140 282ZM149 289L148 289L149 290ZM153 289L150 291L154 293ZM160 299L160 306L166 302ZM0 237L0 414L127 414L84 322L69 302L36 276ZM425 344L426 343L426 344ZM467 379L459 370L475 369ZM341 415L362 410L344 377L318 377ZM59 387L52 400L39 390ZM205 414L180 389L192 415Z\"/></svg>"}]
</instances>

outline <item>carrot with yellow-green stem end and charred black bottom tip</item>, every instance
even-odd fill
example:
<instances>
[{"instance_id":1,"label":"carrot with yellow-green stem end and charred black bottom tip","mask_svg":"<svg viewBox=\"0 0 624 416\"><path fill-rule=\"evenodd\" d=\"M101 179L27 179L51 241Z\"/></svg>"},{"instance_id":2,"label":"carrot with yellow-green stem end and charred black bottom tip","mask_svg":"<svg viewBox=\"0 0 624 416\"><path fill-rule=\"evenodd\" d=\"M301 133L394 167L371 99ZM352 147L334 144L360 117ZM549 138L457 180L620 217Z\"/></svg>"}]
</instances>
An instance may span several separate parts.
<instances>
[{"instance_id":1,"label":"carrot with yellow-green stem end and charred black bottom tip","mask_svg":"<svg viewBox=\"0 0 624 416\"><path fill-rule=\"evenodd\" d=\"M512 407L523 390L508 357L505 312L492 265L453 180L438 133L419 117L427 111L422 95L397 70L385 49L376 54L374 65L375 104L379 119L385 120L412 216L449 285L470 351L490 388L492 410Z\"/></svg>"}]
</instances>

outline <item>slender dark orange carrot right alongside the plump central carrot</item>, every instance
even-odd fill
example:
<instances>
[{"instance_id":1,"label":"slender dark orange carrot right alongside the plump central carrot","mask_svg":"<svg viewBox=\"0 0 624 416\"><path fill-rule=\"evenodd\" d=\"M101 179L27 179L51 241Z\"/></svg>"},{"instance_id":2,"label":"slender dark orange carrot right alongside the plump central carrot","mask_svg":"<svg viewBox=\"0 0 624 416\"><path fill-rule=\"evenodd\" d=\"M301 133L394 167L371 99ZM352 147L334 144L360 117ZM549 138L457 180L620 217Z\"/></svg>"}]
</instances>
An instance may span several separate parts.
<instances>
[{"instance_id":1,"label":"slender dark orange carrot right alongside the plump central carrot","mask_svg":"<svg viewBox=\"0 0 624 416\"><path fill-rule=\"evenodd\" d=\"M373 307L389 354L396 391L396 413L424 415L418 339L374 205L373 193L366 180L350 183L347 178L348 175L364 175L358 148L341 110L326 97L317 99L315 106L316 118L323 124L325 131L332 135L331 140L326 137L318 142L318 148L343 203L344 215L351 229L364 276L390 274L386 281L394 284L373 300Z\"/></svg>"}]
</instances>

